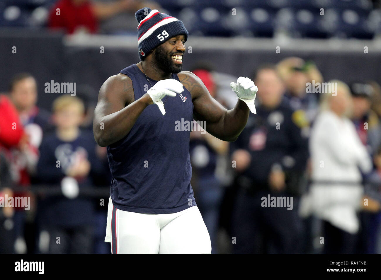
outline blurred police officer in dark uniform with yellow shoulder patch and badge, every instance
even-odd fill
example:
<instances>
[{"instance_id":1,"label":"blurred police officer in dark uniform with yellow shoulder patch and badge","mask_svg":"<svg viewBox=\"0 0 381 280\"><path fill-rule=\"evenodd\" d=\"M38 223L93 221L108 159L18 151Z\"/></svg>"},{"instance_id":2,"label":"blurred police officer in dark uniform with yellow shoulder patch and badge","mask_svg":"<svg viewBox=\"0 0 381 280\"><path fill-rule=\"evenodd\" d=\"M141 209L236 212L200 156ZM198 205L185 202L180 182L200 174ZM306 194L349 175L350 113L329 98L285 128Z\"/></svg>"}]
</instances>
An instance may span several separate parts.
<instances>
[{"instance_id":1,"label":"blurred police officer in dark uniform with yellow shoulder patch and badge","mask_svg":"<svg viewBox=\"0 0 381 280\"><path fill-rule=\"evenodd\" d=\"M293 112L283 98L285 88L274 66L259 68L255 84L257 114L250 115L231 145L238 188L232 214L233 253L300 253L303 226L297 205L308 158L309 124L303 111ZM286 197L290 203L268 207L268 195Z\"/></svg>"}]
</instances>

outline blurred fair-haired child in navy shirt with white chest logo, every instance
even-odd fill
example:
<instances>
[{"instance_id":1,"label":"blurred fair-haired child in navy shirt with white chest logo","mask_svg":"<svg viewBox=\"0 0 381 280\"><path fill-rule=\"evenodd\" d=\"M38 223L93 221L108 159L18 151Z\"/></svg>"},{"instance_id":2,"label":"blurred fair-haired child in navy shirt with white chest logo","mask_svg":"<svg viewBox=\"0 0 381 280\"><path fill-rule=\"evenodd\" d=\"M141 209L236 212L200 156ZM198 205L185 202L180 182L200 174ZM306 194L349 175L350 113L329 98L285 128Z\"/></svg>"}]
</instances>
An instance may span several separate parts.
<instances>
[{"instance_id":1,"label":"blurred fair-haired child in navy shirt with white chest logo","mask_svg":"<svg viewBox=\"0 0 381 280\"><path fill-rule=\"evenodd\" d=\"M78 186L90 186L90 173L98 172L99 163L93 134L79 129L84 110L76 96L57 98L53 103L56 131L45 136L40 146L40 182L61 184L66 196L46 197L39 204L42 229L50 234L50 253L92 253L94 205L77 195Z\"/></svg>"}]
</instances>

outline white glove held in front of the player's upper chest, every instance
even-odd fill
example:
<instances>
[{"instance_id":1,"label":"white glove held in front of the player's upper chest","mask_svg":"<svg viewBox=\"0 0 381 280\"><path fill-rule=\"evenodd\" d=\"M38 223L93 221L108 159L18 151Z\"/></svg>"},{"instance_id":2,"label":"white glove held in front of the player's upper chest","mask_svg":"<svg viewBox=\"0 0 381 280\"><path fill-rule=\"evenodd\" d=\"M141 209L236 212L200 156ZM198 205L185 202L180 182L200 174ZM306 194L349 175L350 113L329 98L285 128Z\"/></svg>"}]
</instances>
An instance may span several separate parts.
<instances>
[{"instance_id":1,"label":"white glove held in front of the player's upper chest","mask_svg":"<svg viewBox=\"0 0 381 280\"><path fill-rule=\"evenodd\" d=\"M160 80L150 88L147 93L154 103L159 107L160 112L165 115L164 104L162 98L166 95L176 96L176 93L182 93L184 88L182 83L174 79Z\"/></svg>"}]
</instances>

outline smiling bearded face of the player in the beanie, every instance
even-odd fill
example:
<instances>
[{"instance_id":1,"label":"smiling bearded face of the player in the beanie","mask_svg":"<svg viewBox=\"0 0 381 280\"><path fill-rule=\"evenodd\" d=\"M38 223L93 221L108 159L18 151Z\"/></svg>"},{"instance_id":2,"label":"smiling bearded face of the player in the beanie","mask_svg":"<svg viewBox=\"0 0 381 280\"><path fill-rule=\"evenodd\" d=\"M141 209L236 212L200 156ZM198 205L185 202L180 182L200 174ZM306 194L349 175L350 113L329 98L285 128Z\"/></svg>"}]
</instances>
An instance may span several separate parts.
<instances>
[{"instance_id":1,"label":"smiling bearded face of the player in the beanie","mask_svg":"<svg viewBox=\"0 0 381 280\"><path fill-rule=\"evenodd\" d=\"M182 58L185 53L185 36L177 35L159 45L154 51L156 65L167 73L179 73L182 70Z\"/></svg>"}]
</instances>

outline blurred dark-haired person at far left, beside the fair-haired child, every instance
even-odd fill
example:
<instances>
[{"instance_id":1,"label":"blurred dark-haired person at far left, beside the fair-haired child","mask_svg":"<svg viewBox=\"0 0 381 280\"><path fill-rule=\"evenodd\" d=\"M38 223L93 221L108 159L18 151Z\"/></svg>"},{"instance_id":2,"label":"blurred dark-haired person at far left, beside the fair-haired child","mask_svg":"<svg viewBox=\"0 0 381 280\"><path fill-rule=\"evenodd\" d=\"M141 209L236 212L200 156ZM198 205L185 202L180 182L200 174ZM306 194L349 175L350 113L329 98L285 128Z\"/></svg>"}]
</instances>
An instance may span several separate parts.
<instances>
[{"instance_id":1,"label":"blurred dark-haired person at far left, beside the fair-haired child","mask_svg":"<svg viewBox=\"0 0 381 280\"><path fill-rule=\"evenodd\" d=\"M16 107L19 118L24 126L24 137L18 147L11 149L11 171L14 184L18 186L30 186L32 176L38 161L38 147L41 144L43 131L51 126L49 123L50 113L36 106L37 103L37 83L35 78L29 73L19 73L11 78L10 98ZM14 192L16 197L34 196L28 192ZM16 232L16 252L26 253L26 241L24 238L26 214L24 208L15 208L14 226Z\"/></svg>"}]
</instances>

